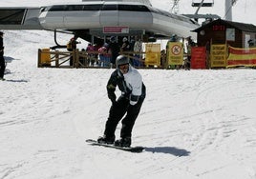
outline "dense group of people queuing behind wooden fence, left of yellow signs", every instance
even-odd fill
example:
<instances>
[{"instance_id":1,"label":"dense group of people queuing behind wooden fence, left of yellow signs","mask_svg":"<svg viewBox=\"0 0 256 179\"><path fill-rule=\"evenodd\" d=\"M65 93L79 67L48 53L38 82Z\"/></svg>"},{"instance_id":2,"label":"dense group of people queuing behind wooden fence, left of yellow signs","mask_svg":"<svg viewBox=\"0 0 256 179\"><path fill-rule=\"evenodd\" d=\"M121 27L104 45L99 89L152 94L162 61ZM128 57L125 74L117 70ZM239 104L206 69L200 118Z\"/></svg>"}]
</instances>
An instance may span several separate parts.
<instances>
[{"instance_id":1,"label":"dense group of people queuing behind wooden fence, left of yellow signs","mask_svg":"<svg viewBox=\"0 0 256 179\"><path fill-rule=\"evenodd\" d=\"M76 50L77 37L73 37L67 44L67 50ZM87 54L87 58L79 59L80 64L89 67L116 67L116 59L119 54L130 56L131 64L134 67L142 67L142 41L138 36L131 38L130 41L127 37L119 39L116 36L111 36L102 45L89 43L86 49L82 49ZM70 66L74 65L74 59L71 56Z\"/></svg>"}]
</instances>

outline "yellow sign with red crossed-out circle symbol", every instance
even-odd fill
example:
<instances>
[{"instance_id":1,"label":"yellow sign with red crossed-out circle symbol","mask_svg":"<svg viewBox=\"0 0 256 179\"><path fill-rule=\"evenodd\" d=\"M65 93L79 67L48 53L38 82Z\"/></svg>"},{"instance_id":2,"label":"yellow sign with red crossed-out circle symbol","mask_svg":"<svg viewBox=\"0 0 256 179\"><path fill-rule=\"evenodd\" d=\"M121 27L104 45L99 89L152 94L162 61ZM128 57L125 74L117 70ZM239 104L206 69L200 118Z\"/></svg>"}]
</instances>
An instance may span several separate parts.
<instances>
[{"instance_id":1,"label":"yellow sign with red crossed-out circle symbol","mask_svg":"<svg viewBox=\"0 0 256 179\"><path fill-rule=\"evenodd\" d=\"M168 42L167 61L168 61L168 65L182 65L183 46L181 42Z\"/></svg>"}]
</instances>

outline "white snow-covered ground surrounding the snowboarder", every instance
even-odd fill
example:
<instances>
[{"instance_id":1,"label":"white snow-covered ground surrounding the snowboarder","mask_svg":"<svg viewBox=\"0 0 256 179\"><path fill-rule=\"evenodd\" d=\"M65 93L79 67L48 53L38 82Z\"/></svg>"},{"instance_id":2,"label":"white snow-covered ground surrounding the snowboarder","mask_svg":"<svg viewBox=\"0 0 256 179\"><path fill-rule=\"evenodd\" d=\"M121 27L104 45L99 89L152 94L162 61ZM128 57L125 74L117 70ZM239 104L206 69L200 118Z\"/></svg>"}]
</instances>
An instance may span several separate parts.
<instances>
[{"instance_id":1,"label":"white snow-covered ground surrounding the snowboarder","mask_svg":"<svg viewBox=\"0 0 256 179\"><path fill-rule=\"evenodd\" d=\"M131 153L85 143L103 132L113 70L38 69L53 32L5 32L1 179L256 178L255 70L139 70L147 97L133 145L145 150Z\"/></svg>"}]
</instances>

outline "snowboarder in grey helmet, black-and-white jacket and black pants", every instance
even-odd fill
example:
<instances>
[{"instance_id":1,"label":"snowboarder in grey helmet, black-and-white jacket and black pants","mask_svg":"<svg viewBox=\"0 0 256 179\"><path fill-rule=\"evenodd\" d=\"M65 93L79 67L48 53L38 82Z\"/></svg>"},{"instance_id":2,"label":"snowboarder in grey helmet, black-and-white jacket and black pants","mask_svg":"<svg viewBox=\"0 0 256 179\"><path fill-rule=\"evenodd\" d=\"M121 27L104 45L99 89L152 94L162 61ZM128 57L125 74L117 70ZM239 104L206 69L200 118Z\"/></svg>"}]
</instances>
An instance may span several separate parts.
<instances>
[{"instance_id":1,"label":"snowboarder in grey helmet, black-and-white jacket and black pants","mask_svg":"<svg viewBox=\"0 0 256 179\"><path fill-rule=\"evenodd\" d=\"M127 57L124 55L117 56L116 66L117 69L111 74L107 84L108 97L112 101L112 106L105 125L104 135L99 137L97 142L130 147L132 129L146 96L146 88L139 71L129 64ZM117 87L121 91L118 99L115 94ZM122 119L124 115L125 117ZM121 119L120 139L115 141L115 130Z\"/></svg>"}]
</instances>

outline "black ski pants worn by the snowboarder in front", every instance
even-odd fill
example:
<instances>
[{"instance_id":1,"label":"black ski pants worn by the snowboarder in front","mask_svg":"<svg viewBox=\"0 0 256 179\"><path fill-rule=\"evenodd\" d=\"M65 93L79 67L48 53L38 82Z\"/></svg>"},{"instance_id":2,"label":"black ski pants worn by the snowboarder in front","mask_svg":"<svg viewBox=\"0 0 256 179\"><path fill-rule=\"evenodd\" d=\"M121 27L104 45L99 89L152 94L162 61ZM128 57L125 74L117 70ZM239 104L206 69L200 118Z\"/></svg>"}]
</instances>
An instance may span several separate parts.
<instances>
[{"instance_id":1,"label":"black ski pants worn by the snowboarder in front","mask_svg":"<svg viewBox=\"0 0 256 179\"><path fill-rule=\"evenodd\" d=\"M125 115L125 113L126 115L121 121L122 127L120 131L120 137L121 138L132 137L132 130L133 130L135 121L139 115L139 110L142 106L143 101L144 101L144 97L139 97L138 103L132 106L130 105L130 100L127 97L124 97L121 95L118 98L117 102L113 103L110 108L109 117L106 122L105 131L104 131L104 134L106 135L106 137L115 136L117 124Z\"/></svg>"}]
</instances>

